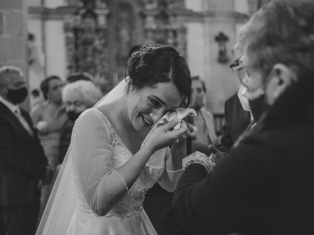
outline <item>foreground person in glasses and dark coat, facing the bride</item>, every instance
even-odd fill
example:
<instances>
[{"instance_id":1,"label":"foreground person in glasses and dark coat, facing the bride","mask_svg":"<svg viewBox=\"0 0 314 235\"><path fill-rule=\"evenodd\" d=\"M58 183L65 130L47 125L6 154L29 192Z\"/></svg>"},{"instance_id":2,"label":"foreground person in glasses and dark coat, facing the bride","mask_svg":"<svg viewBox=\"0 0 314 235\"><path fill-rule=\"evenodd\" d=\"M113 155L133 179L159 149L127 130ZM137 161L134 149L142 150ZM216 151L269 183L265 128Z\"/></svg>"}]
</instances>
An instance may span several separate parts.
<instances>
[{"instance_id":1,"label":"foreground person in glasses and dark coat, facing the bride","mask_svg":"<svg viewBox=\"0 0 314 235\"><path fill-rule=\"evenodd\" d=\"M314 234L313 35L313 0L273 0L246 24L237 70L252 113L264 108L213 170L183 159L173 205L194 233Z\"/></svg>"}]
</instances>

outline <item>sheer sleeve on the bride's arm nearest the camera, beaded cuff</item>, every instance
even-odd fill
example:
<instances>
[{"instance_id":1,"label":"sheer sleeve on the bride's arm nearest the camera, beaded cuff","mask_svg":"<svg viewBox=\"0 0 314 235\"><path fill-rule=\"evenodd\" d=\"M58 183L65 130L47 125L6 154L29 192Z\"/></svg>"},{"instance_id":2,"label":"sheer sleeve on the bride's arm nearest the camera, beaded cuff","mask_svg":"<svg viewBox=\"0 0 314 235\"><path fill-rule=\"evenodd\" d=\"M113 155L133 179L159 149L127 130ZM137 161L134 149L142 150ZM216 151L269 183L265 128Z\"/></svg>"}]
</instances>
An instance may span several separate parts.
<instances>
[{"instance_id":1,"label":"sheer sleeve on the bride's arm nearest the camera, beaded cuff","mask_svg":"<svg viewBox=\"0 0 314 235\"><path fill-rule=\"evenodd\" d=\"M105 215L127 193L128 188L111 164L110 133L97 112L78 119L72 143L78 185L92 211Z\"/></svg>"}]
</instances>

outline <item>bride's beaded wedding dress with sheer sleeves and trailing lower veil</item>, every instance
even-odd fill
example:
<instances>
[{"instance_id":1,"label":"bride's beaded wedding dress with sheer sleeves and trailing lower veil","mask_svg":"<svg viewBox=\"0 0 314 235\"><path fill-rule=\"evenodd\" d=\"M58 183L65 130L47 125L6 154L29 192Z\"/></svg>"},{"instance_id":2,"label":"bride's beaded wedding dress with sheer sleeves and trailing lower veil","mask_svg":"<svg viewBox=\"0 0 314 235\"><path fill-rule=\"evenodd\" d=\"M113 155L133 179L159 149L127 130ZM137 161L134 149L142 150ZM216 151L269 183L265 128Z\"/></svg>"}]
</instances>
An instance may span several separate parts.
<instances>
[{"instance_id":1,"label":"bride's beaded wedding dress with sheer sleeves and trailing lower veil","mask_svg":"<svg viewBox=\"0 0 314 235\"><path fill-rule=\"evenodd\" d=\"M143 201L157 182L168 191L177 185L182 171L165 168L169 147L150 157L128 190L115 169L132 153L108 118L92 108L76 121L67 155L36 235L157 235ZM121 191L126 196L108 205Z\"/></svg>"}]
</instances>

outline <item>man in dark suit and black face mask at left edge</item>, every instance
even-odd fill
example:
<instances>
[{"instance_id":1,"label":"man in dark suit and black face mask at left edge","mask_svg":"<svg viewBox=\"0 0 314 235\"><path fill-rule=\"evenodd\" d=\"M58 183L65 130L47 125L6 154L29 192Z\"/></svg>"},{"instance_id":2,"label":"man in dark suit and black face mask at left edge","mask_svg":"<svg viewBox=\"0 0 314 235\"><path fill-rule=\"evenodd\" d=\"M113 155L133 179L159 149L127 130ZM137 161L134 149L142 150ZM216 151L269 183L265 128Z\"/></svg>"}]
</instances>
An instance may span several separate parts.
<instances>
[{"instance_id":1,"label":"man in dark suit and black face mask at left edge","mask_svg":"<svg viewBox=\"0 0 314 235\"><path fill-rule=\"evenodd\" d=\"M27 97L22 71L0 68L0 235L33 235L40 185L53 169L27 112L19 107Z\"/></svg>"}]
</instances>

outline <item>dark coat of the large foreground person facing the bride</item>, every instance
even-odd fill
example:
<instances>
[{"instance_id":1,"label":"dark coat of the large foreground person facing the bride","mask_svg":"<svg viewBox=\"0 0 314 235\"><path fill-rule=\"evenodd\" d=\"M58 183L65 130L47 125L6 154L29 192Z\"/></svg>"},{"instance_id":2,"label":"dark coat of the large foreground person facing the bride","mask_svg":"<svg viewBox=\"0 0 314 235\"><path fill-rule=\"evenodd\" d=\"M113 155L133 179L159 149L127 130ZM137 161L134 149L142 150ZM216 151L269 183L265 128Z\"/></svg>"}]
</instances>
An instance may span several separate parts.
<instances>
[{"instance_id":1,"label":"dark coat of the large foreground person facing the bride","mask_svg":"<svg viewBox=\"0 0 314 235\"><path fill-rule=\"evenodd\" d=\"M314 234L314 79L298 81L207 175L189 166L177 219L199 235Z\"/></svg>"}]
</instances>

